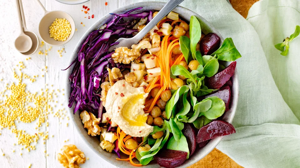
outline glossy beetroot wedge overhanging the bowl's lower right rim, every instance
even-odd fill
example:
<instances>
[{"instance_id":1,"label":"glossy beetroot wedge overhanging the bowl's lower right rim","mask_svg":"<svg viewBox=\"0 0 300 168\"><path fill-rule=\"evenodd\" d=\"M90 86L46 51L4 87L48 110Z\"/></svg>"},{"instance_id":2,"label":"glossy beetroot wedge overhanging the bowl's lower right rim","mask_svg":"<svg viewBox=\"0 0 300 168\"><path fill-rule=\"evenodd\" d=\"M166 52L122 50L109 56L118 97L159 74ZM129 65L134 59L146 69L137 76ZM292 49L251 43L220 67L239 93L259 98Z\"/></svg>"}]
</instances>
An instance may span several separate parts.
<instances>
[{"instance_id":1,"label":"glossy beetroot wedge overhanging the bowl's lower right rim","mask_svg":"<svg viewBox=\"0 0 300 168\"><path fill-rule=\"evenodd\" d=\"M197 143L232 133L235 133L232 124L222 120L215 120L200 128L197 134Z\"/></svg>"}]
</instances>

